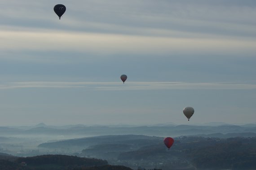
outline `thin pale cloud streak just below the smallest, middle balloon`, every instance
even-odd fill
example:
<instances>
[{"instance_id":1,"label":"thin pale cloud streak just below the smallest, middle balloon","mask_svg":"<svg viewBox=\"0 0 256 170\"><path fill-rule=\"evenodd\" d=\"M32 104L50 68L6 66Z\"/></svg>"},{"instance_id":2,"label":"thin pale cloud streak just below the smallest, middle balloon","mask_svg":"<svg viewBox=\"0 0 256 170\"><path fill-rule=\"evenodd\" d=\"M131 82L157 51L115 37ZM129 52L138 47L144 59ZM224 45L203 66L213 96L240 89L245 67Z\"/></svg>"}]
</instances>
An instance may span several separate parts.
<instances>
[{"instance_id":1,"label":"thin pale cloud streak just below the smallest, middle balloon","mask_svg":"<svg viewBox=\"0 0 256 170\"><path fill-rule=\"evenodd\" d=\"M13 82L0 85L0 89L18 88L83 88L87 90L171 90L171 89L256 89L256 84L239 82Z\"/></svg>"}]
</instances>

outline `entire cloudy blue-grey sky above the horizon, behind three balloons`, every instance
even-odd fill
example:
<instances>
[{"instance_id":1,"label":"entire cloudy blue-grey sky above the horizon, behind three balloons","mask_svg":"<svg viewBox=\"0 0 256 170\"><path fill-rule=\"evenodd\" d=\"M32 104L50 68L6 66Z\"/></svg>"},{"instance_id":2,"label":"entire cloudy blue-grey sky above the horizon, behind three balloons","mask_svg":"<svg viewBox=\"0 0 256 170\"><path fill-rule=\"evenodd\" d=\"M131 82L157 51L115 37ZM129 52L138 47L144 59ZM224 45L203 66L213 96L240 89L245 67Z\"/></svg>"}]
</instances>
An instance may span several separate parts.
<instances>
[{"instance_id":1,"label":"entire cloudy blue-grey sky above the horizon, behind three balloons","mask_svg":"<svg viewBox=\"0 0 256 170\"><path fill-rule=\"evenodd\" d=\"M255 0L0 0L0 18L0 126L256 122Z\"/></svg>"}]
</instances>

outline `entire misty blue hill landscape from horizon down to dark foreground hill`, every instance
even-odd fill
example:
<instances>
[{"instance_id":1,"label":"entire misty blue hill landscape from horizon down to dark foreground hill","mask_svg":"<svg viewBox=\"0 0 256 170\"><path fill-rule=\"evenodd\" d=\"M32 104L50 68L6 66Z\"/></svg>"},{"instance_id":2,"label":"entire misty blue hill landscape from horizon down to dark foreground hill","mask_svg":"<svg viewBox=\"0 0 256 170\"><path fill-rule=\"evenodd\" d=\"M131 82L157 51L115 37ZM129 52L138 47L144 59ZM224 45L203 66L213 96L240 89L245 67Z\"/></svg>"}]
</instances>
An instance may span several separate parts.
<instances>
[{"instance_id":1,"label":"entire misty blue hill landscape from horizon down to dark foreground hill","mask_svg":"<svg viewBox=\"0 0 256 170\"><path fill-rule=\"evenodd\" d=\"M40 137L39 140L32 140L38 136L44 140L41 140ZM66 139L69 139L59 140L63 138L58 139L57 136L65 136ZM166 136L173 137L175 140L170 150L163 144L163 138ZM54 141L45 140L47 137ZM31 146L31 144L35 144L34 147L26 150L27 146ZM240 170L245 170L255 167L256 125L159 124L138 127L127 125L124 127L121 125L54 127L40 123L32 127L0 127L0 150L19 157L38 154L93 157L110 161L111 165L128 165L133 169L138 165L147 169L172 167L184 170L191 170L195 167L194 165L203 169L217 167L218 159L216 158L224 155L225 157L221 158L224 166L217 168L239 167ZM214 162L212 162L212 153L215 154ZM233 156L230 157L230 155ZM37 158L41 160L43 157ZM55 157L53 158L55 159ZM21 166L20 163L17 164L14 161L24 161L21 159L3 154L0 155L0 165L6 165L4 167ZM247 164L247 160L249 164ZM29 160L25 162L29 162ZM54 166L63 168L59 164ZM111 166L111 168L114 167Z\"/></svg>"}]
</instances>

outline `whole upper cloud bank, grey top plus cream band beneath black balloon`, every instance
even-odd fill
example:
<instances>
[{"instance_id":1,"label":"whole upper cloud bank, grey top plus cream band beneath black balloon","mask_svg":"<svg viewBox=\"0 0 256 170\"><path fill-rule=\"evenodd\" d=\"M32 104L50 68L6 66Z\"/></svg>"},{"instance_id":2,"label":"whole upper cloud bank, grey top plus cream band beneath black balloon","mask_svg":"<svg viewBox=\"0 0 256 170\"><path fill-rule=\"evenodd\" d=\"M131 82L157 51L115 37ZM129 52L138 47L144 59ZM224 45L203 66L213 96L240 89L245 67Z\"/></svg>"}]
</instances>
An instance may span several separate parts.
<instances>
[{"instance_id":1,"label":"whole upper cloud bank, grey top plus cream band beneath black balloon","mask_svg":"<svg viewBox=\"0 0 256 170\"><path fill-rule=\"evenodd\" d=\"M33 60L47 51L86 57L255 54L253 1L64 0L61 21L53 12L55 3L0 2L0 50L9 54L0 57ZM36 55L28 57L31 51Z\"/></svg>"}]
</instances>

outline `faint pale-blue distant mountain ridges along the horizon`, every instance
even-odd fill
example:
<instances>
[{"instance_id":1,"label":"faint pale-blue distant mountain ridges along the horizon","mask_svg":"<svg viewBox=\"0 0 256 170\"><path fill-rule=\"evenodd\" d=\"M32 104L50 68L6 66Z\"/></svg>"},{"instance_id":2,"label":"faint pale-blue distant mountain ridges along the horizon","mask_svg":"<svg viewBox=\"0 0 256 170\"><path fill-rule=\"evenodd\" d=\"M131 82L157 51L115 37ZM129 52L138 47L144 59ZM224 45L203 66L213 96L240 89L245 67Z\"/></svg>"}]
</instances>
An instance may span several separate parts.
<instances>
[{"instance_id":1,"label":"faint pale-blue distant mountain ridges along the horizon","mask_svg":"<svg viewBox=\"0 0 256 170\"><path fill-rule=\"evenodd\" d=\"M146 135L146 136L191 136L210 135L215 133L256 133L256 124L247 125L220 125L220 126L196 126L196 125L164 125L119 127L119 126L46 126L40 123L33 127L0 127L0 136L102 136L102 135Z\"/></svg>"}]
</instances>

